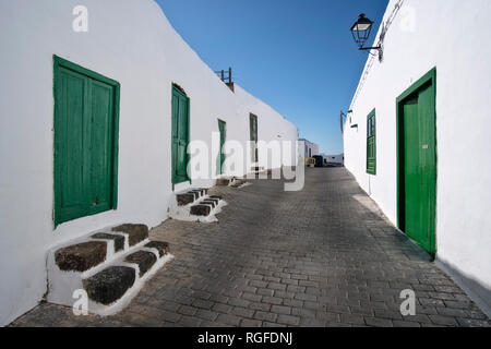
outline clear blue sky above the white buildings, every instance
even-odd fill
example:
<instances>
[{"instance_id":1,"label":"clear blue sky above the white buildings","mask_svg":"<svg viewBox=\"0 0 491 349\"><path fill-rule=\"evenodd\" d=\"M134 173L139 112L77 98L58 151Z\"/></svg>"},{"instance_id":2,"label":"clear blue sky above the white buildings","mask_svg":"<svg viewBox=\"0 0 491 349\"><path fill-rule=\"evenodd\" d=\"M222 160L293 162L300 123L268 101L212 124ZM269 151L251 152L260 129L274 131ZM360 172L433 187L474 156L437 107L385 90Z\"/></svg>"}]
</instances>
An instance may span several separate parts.
<instances>
[{"instance_id":1,"label":"clear blue sky above the white buildings","mask_svg":"<svg viewBox=\"0 0 491 349\"><path fill-rule=\"evenodd\" d=\"M388 0L156 1L213 70L231 65L236 82L297 124L300 137L343 152L339 111L368 57L349 28L363 12L376 29Z\"/></svg>"}]
</instances>

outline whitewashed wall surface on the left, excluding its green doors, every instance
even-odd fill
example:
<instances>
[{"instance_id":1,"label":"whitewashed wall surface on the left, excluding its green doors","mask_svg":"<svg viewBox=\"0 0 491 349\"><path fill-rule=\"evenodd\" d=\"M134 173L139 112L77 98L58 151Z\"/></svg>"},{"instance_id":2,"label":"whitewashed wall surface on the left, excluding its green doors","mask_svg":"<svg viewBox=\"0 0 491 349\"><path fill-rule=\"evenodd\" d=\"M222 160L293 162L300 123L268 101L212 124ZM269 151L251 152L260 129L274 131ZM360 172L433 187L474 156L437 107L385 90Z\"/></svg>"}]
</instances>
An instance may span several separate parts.
<instances>
[{"instance_id":1,"label":"whitewashed wall surface on the left, excluding its green doors","mask_svg":"<svg viewBox=\"0 0 491 349\"><path fill-rule=\"evenodd\" d=\"M155 227L167 218L171 83L191 98L191 140L208 143L220 118L229 139L246 142L249 112L259 118L260 139L280 134L297 140L297 128L271 107L238 86L231 93L154 1L85 0L88 33L72 31L77 4L0 0L0 325L36 305L47 291L45 254L50 246L109 225ZM118 209L57 229L53 55L121 84Z\"/></svg>"}]
</instances>

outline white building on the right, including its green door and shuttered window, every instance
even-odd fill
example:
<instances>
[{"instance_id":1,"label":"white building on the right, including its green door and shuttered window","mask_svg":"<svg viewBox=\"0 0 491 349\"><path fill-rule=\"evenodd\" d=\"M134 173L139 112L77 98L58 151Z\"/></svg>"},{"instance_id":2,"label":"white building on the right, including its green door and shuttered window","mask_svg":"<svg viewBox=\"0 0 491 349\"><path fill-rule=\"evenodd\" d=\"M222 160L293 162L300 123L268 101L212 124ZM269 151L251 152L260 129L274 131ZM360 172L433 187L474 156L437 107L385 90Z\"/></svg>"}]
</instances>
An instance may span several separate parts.
<instances>
[{"instance_id":1,"label":"white building on the right, including its green door and shuttered window","mask_svg":"<svg viewBox=\"0 0 491 349\"><path fill-rule=\"evenodd\" d=\"M360 185L488 314L490 12L488 0L391 0L383 60L369 56L344 128Z\"/></svg>"}]
</instances>

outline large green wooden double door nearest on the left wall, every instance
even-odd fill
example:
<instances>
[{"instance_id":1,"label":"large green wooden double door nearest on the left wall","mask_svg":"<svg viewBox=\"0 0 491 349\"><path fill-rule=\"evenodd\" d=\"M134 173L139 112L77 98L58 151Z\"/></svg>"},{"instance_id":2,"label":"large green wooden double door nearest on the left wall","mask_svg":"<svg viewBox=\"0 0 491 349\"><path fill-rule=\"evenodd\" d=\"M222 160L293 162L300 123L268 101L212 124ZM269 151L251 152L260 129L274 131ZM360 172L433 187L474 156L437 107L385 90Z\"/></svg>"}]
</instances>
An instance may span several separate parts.
<instances>
[{"instance_id":1,"label":"large green wooden double door nearest on the left wall","mask_svg":"<svg viewBox=\"0 0 491 349\"><path fill-rule=\"evenodd\" d=\"M55 222L116 208L119 84L55 59Z\"/></svg>"}]
</instances>

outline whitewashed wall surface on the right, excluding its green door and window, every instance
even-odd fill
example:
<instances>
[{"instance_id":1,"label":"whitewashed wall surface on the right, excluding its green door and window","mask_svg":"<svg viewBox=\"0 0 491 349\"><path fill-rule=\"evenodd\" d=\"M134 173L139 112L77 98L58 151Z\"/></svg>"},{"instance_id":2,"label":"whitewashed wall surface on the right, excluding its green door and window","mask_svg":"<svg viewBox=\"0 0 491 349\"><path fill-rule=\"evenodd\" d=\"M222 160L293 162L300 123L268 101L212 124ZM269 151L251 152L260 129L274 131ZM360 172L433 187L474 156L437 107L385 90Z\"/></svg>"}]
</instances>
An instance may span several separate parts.
<instances>
[{"instance_id":1,"label":"whitewashed wall surface on the right, excluding its green door and window","mask_svg":"<svg viewBox=\"0 0 491 349\"><path fill-rule=\"evenodd\" d=\"M396 2L390 2L385 20ZM344 134L346 167L396 224L396 98L436 67L436 255L488 312L491 47L484 38L491 34L489 13L489 0L406 0L386 34L383 63L375 60L351 105L351 124L359 128L351 129L348 118ZM376 176L366 171L367 116L373 108Z\"/></svg>"}]
</instances>

